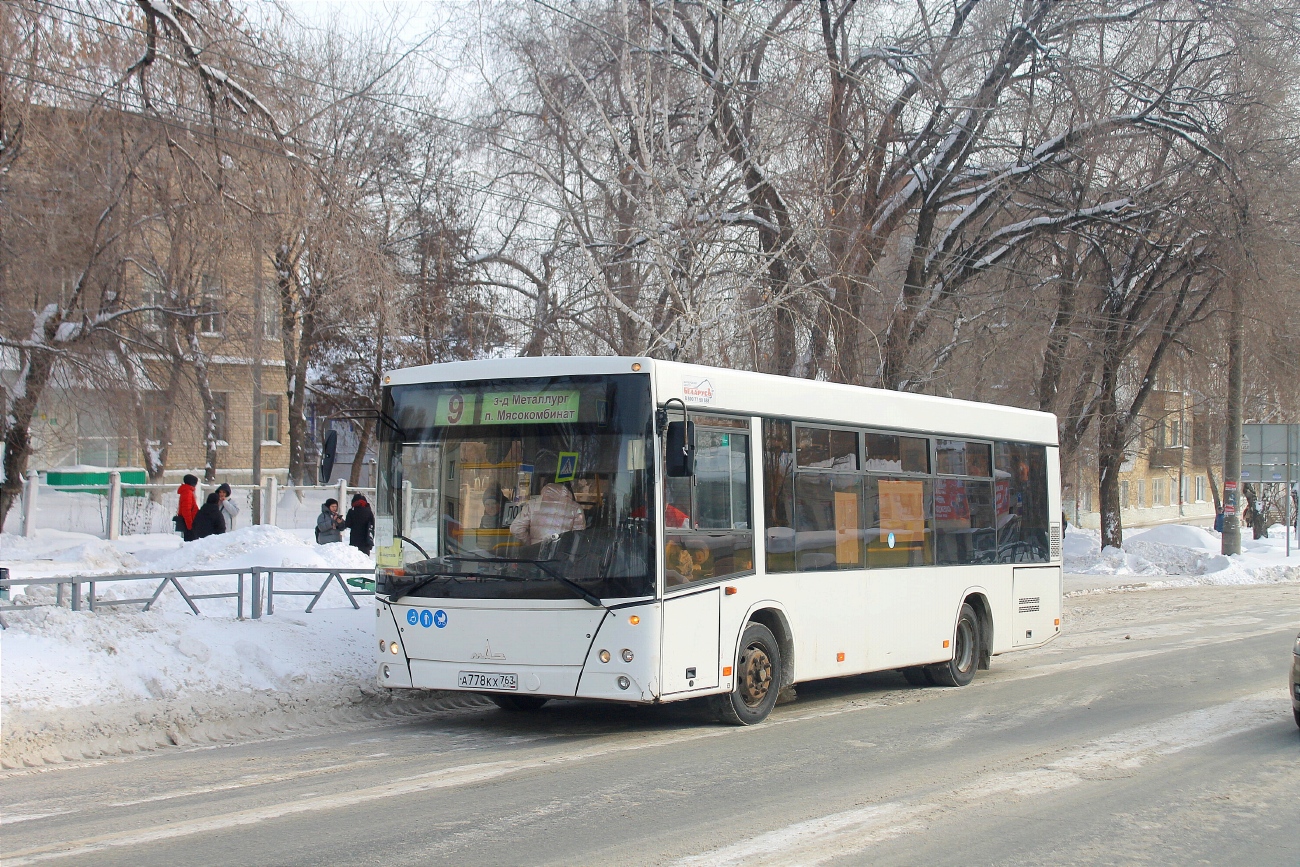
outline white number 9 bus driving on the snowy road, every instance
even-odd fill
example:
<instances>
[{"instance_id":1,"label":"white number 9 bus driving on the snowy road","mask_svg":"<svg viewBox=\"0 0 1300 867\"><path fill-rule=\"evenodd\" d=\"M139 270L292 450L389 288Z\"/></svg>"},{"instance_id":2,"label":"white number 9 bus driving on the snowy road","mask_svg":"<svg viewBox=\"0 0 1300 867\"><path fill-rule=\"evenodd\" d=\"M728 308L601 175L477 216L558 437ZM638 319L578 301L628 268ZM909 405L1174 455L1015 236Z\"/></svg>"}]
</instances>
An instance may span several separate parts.
<instances>
[{"instance_id":1,"label":"white number 9 bus driving on the snowy road","mask_svg":"<svg viewBox=\"0 0 1300 867\"><path fill-rule=\"evenodd\" d=\"M384 378L378 681L710 697L961 686L1061 628L1053 416L636 357Z\"/></svg>"}]
</instances>

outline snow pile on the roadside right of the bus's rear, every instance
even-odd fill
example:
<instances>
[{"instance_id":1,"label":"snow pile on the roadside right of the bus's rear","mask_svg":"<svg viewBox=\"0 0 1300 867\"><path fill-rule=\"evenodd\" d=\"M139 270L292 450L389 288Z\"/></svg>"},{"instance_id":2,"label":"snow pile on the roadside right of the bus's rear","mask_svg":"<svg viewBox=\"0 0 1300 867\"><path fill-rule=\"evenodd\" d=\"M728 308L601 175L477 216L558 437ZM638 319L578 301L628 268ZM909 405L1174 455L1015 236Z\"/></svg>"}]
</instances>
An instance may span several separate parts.
<instances>
[{"instance_id":1,"label":"snow pile on the roadside right of the bus's rear","mask_svg":"<svg viewBox=\"0 0 1300 867\"><path fill-rule=\"evenodd\" d=\"M1243 539L1239 555L1223 556L1219 550L1218 533L1186 524L1136 530L1126 536L1123 550L1102 549L1097 530L1071 526L1063 546L1065 571L1148 578L1143 581L1147 586L1300 581L1300 552L1286 556L1286 528L1280 525L1271 528L1269 538Z\"/></svg>"}]
</instances>

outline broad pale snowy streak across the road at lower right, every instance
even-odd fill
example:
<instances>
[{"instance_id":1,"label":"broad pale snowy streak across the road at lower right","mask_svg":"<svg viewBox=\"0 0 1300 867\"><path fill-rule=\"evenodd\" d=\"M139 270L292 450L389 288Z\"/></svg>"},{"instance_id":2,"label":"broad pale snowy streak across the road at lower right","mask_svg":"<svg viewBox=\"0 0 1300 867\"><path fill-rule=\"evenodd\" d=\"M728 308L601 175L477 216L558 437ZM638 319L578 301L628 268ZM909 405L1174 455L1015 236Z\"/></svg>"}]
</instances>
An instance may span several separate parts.
<instances>
[{"instance_id":1,"label":"broad pale snowy streak across the road at lower right","mask_svg":"<svg viewBox=\"0 0 1300 867\"><path fill-rule=\"evenodd\" d=\"M993 772L933 799L875 803L688 855L677 867L814 867L878 842L930 827L937 814L988 801L1057 792L1098 777L1135 771L1153 759L1205 746L1286 719L1284 690L1268 690L1226 705L1179 714L1097 738L1036 768Z\"/></svg>"}]
</instances>

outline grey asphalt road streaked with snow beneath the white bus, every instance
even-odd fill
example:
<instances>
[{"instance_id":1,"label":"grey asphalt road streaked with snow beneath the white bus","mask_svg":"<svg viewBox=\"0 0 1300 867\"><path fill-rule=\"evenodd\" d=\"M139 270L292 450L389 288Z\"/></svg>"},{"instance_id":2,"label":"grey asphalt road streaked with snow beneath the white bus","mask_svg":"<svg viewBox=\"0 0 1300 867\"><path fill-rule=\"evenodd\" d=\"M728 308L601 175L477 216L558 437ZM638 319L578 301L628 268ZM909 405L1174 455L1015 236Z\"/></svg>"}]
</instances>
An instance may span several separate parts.
<instances>
[{"instance_id":1,"label":"grey asphalt road streaked with snow beneath the white bus","mask_svg":"<svg viewBox=\"0 0 1300 867\"><path fill-rule=\"evenodd\" d=\"M0 775L0 863L1300 864L1300 586L1067 599L965 689L559 702Z\"/></svg>"}]
</instances>

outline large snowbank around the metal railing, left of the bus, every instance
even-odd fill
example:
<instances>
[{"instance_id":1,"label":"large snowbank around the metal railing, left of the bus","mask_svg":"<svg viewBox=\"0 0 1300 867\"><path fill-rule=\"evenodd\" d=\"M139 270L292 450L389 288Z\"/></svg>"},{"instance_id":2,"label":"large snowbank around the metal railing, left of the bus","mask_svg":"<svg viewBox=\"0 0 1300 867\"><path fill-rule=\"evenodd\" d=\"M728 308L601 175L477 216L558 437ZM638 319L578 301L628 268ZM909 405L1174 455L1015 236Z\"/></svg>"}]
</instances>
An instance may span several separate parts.
<instances>
[{"instance_id":1,"label":"large snowbank around the metal railing, left of the bus","mask_svg":"<svg viewBox=\"0 0 1300 867\"><path fill-rule=\"evenodd\" d=\"M260 567L373 568L356 549L315 545L300 533L250 526L181 543L174 536L104 541L78 533L0 536L12 577ZM277 589L317 589L321 575L277 577ZM191 594L229 593L235 578L182 580ZM152 594L156 584L98 586L100 598ZM246 585L247 593L247 585ZM36 588L30 598L52 597ZM332 586L309 615L307 598L277 599L273 616L237 620L231 599L199 601L194 616L174 589L152 611L40 607L4 615L0 632L8 767L116 753L160 740L199 740L225 721L391 705L374 681L373 606L354 610ZM246 607L247 611L247 607ZM229 731L229 729L224 729ZM234 729L238 731L238 729ZM130 744L121 738L130 736ZM129 740L130 740L129 738ZM134 746L131 746L134 745Z\"/></svg>"}]
</instances>

